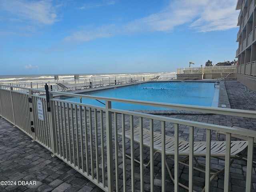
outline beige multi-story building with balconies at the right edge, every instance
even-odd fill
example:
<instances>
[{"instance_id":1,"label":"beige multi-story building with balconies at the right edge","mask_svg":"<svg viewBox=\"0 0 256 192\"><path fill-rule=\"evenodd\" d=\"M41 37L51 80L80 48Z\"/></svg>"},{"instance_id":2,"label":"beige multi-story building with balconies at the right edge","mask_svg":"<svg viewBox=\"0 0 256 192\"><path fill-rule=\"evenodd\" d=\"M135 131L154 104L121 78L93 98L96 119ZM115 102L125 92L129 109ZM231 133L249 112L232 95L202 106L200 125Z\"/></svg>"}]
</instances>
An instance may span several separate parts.
<instances>
[{"instance_id":1,"label":"beige multi-story building with balconies at the right edge","mask_svg":"<svg viewBox=\"0 0 256 192\"><path fill-rule=\"evenodd\" d=\"M240 10L236 50L238 66L236 78L248 88L256 91L256 0L238 0L236 10Z\"/></svg>"}]
</instances>

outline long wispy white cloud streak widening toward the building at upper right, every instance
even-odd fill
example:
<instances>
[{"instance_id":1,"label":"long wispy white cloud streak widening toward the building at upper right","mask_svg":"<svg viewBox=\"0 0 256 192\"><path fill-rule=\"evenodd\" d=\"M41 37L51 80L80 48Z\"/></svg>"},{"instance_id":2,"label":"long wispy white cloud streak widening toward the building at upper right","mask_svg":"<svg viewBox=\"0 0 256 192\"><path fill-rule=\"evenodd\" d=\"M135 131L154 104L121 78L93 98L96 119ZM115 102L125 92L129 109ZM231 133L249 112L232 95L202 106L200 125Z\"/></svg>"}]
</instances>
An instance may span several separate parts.
<instances>
[{"instance_id":1,"label":"long wispy white cloud streak widening toward the building at upper right","mask_svg":"<svg viewBox=\"0 0 256 192\"><path fill-rule=\"evenodd\" d=\"M196 32L228 30L236 27L239 12L235 6L236 0L172 0L169 6L155 14L121 25L78 30L64 38L64 42L81 43L120 34L172 32L184 24Z\"/></svg>"}]
</instances>

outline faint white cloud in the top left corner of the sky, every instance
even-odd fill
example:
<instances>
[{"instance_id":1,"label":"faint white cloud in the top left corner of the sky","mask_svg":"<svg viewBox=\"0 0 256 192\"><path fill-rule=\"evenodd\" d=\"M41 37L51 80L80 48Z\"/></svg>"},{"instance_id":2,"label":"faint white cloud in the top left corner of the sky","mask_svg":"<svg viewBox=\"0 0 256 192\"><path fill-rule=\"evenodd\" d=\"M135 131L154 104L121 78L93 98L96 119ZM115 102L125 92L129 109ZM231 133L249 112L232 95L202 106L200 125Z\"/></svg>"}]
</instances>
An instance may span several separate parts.
<instances>
[{"instance_id":1,"label":"faint white cloud in the top left corner of the sky","mask_svg":"<svg viewBox=\"0 0 256 192\"><path fill-rule=\"evenodd\" d=\"M51 0L0 0L0 10L10 14L12 21L30 22L37 25L50 25L58 21Z\"/></svg>"}]
</instances>

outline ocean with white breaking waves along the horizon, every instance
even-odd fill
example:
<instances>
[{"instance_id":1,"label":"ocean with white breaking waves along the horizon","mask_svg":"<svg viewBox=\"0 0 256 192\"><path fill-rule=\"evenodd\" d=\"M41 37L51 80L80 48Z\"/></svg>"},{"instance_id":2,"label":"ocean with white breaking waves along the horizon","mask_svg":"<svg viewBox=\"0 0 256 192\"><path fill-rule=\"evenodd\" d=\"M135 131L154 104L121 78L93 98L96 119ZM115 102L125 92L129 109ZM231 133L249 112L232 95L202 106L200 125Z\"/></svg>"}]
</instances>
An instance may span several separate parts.
<instances>
[{"instance_id":1,"label":"ocean with white breaking waves along the horizon","mask_svg":"<svg viewBox=\"0 0 256 192\"><path fill-rule=\"evenodd\" d=\"M160 76L160 79L176 79L177 72L144 72L144 73L118 73L118 74L42 74L42 75L1 75L0 84L22 83L22 82L48 82L54 81L54 76L58 80L74 80L75 76L79 79L99 79L99 78L120 78L120 77L147 77L154 78Z\"/></svg>"}]
</instances>

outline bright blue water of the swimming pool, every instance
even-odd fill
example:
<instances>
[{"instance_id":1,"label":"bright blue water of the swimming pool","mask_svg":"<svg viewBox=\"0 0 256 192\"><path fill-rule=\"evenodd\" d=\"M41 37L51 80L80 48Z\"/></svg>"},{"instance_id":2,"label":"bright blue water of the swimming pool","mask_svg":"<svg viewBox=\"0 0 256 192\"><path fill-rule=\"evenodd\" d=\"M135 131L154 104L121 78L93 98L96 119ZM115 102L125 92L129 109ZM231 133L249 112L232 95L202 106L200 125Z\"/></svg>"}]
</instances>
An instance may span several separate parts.
<instances>
[{"instance_id":1,"label":"bright blue water of the swimming pool","mask_svg":"<svg viewBox=\"0 0 256 192\"><path fill-rule=\"evenodd\" d=\"M214 88L214 83L208 82L150 82L112 90L94 92L90 93L89 95L217 107L218 90L219 88ZM80 98L65 98L64 100L80 102ZM104 107L104 105L100 102L91 99L83 98L82 103ZM112 102L112 108L124 110L166 110L166 108L156 108L151 106L140 106L118 102Z\"/></svg>"}]
</instances>

